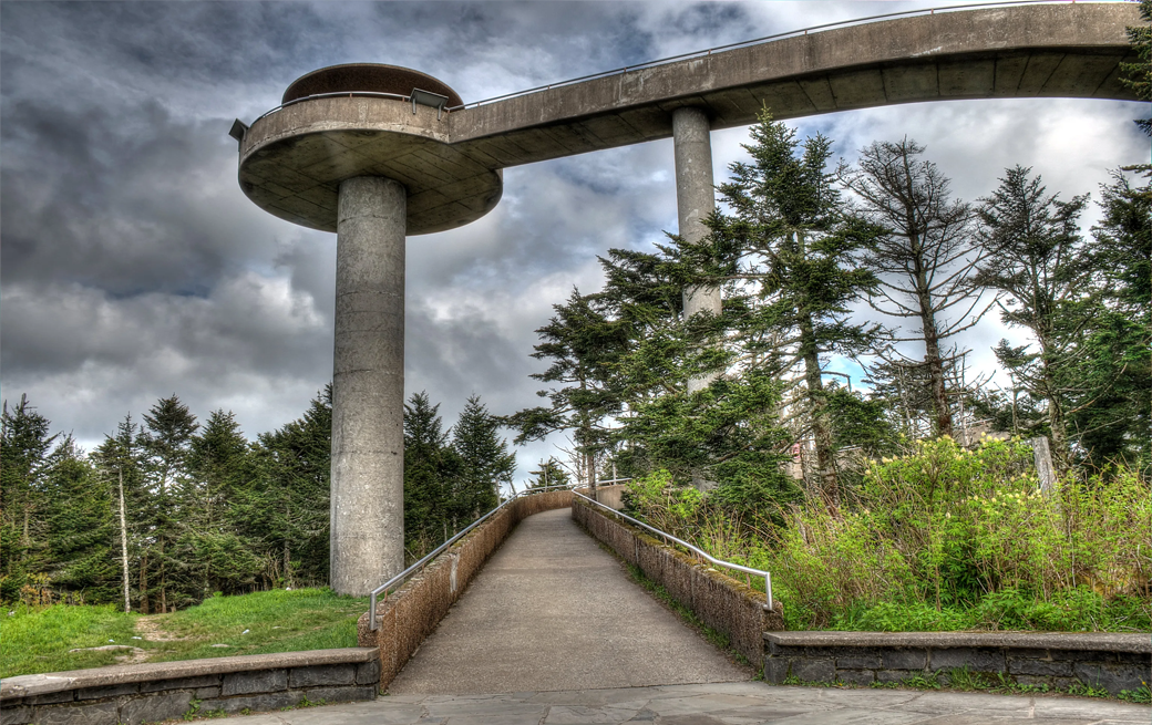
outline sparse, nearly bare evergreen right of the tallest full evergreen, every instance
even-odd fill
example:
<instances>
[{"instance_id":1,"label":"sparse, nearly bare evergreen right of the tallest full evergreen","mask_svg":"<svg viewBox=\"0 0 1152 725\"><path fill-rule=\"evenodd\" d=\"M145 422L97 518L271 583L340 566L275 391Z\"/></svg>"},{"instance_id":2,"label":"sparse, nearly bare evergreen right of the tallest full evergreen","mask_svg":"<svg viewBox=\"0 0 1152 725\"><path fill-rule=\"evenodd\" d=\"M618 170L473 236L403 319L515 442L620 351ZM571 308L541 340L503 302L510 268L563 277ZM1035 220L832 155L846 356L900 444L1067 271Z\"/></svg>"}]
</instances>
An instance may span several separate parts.
<instances>
[{"instance_id":1,"label":"sparse, nearly bare evergreen right of the tallest full evergreen","mask_svg":"<svg viewBox=\"0 0 1152 725\"><path fill-rule=\"evenodd\" d=\"M946 384L950 359L941 345L984 313L971 314L983 291L976 283L982 258L972 208L950 198L948 178L920 159L923 153L924 146L907 138L876 142L861 150L855 168L841 167L840 180L859 198L859 213L885 229L864 255L879 278L870 303L884 314L919 322L915 337L894 342L924 343L933 429L953 435ZM947 319L956 308L960 314Z\"/></svg>"}]
</instances>

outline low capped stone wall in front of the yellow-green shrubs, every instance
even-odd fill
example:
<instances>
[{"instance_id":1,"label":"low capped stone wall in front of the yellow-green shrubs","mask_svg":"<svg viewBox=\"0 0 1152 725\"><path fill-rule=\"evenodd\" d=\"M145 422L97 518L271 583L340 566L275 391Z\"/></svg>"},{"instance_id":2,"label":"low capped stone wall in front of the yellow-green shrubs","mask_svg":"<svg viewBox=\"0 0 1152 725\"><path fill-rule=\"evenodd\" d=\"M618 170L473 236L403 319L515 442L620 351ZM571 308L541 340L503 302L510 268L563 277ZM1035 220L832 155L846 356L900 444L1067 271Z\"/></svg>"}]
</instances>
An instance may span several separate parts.
<instances>
[{"instance_id":1,"label":"low capped stone wall in front of the yellow-green shrubs","mask_svg":"<svg viewBox=\"0 0 1152 725\"><path fill-rule=\"evenodd\" d=\"M1152 634L770 632L764 679L872 685L967 669L1018 685L1136 690L1152 682Z\"/></svg>"}]
</instances>

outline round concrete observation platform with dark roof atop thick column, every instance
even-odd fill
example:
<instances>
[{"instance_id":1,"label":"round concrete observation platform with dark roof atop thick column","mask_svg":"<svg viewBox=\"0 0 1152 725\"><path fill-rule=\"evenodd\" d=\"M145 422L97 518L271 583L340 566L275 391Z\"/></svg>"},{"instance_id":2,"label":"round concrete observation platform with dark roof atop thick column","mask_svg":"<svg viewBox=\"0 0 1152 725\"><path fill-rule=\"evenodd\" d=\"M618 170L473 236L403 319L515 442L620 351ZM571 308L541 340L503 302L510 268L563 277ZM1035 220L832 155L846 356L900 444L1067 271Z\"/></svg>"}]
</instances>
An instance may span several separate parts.
<instances>
[{"instance_id":1,"label":"round concrete observation platform with dark roof atop thick column","mask_svg":"<svg viewBox=\"0 0 1152 725\"><path fill-rule=\"evenodd\" d=\"M285 93L289 105L257 119L245 132L241 189L264 211L323 231L336 230L340 182L357 176L404 185L408 235L484 216L500 200L502 173L448 145L447 113L401 98L417 87L447 96L449 105L458 100L431 76L393 66L374 71L366 64L335 67L303 76ZM349 96L331 96L338 92Z\"/></svg>"}]
</instances>

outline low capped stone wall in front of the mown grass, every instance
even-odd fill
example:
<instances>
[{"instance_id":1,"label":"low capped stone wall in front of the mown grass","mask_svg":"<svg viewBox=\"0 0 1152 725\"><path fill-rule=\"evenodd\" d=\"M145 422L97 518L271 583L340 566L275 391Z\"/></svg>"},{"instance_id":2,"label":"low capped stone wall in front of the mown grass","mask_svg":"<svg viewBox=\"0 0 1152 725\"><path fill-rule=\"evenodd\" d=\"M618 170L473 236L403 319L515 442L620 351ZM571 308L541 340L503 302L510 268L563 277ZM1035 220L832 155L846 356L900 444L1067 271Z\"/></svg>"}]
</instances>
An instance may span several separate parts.
<instances>
[{"instance_id":1,"label":"low capped stone wall in front of the mown grass","mask_svg":"<svg viewBox=\"0 0 1152 725\"><path fill-rule=\"evenodd\" d=\"M373 700L379 679L376 649L358 647L24 674L0 682L0 724L139 725Z\"/></svg>"}]
</instances>

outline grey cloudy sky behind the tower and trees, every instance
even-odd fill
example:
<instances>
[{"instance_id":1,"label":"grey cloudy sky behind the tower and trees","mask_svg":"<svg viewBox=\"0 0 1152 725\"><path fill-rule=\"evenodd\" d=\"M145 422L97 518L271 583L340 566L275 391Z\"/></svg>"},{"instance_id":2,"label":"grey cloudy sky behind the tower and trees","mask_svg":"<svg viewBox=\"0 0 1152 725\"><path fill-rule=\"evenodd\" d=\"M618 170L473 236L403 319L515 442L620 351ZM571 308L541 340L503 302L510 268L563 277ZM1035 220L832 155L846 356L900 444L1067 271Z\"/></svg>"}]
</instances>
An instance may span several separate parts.
<instances>
[{"instance_id":1,"label":"grey cloudy sky behind the tower and trees","mask_svg":"<svg viewBox=\"0 0 1152 725\"><path fill-rule=\"evenodd\" d=\"M945 3L938 3L945 5ZM628 63L924 2L22 2L0 3L0 386L85 447L177 394L234 411L249 437L297 418L332 375L335 236L252 205L233 119L278 105L335 63L429 72L465 101ZM796 122L849 161L910 136L988 193L1031 166L1049 191L1097 192L1146 161L1136 104L922 104ZM713 132L715 178L746 129ZM1092 212L1094 214L1094 209ZM1091 219L1087 219L1091 223ZM450 425L477 394L535 405L535 330L574 285L599 288L609 247L675 230L672 142L505 171L478 222L408 245L408 394ZM1005 335L965 344L977 366ZM521 449L526 465L551 447Z\"/></svg>"}]
</instances>

